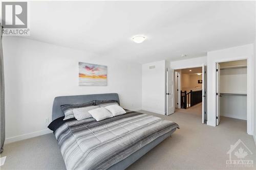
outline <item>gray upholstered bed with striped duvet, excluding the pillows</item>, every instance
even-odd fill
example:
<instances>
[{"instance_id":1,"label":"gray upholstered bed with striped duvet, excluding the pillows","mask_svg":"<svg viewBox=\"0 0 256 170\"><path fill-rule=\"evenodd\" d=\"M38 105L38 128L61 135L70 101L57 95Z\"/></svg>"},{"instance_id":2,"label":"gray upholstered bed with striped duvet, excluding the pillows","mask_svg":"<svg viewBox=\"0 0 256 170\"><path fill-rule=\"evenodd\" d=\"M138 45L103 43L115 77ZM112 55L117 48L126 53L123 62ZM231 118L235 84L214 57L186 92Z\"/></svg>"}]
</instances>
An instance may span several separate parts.
<instances>
[{"instance_id":1,"label":"gray upholstered bed with striped duvet, excluding the pillows","mask_svg":"<svg viewBox=\"0 0 256 170\"><path fill-rule=\"evenodd\" d=\"M58 96L52 109L53 130L67 169L125 169L179 126L156 116L127 113L97 122L94 118L63 120L65 104L117 101L117 93Z\"/></svg>"}]
</instances>

